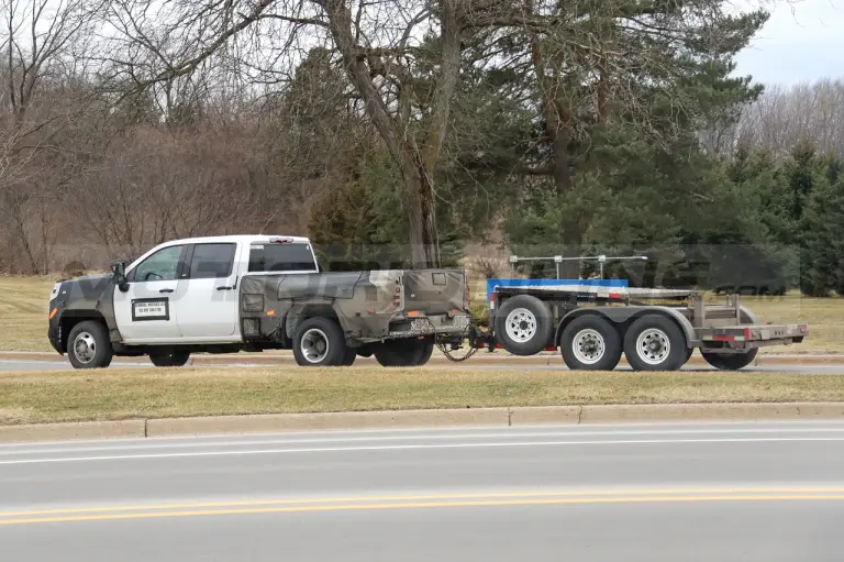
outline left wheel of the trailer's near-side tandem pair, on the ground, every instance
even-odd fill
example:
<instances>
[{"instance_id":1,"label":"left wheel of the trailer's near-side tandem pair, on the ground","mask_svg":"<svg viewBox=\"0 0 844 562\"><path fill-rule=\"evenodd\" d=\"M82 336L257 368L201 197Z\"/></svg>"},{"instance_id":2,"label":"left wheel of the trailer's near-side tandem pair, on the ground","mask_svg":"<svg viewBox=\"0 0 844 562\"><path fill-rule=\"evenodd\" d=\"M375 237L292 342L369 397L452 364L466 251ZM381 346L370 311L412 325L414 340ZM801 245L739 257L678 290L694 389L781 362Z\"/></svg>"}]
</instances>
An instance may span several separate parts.
<instances>
[{"instance_id":1,"label":"left wheel of the trailer's near-side tandem pair, on the ground","mask_svg":"<svg viewBox=\"0 0 844 562\"><path fill-rule=\"evenodd\" d=\"M606 318L581 316L563 330L559 352L571 371L612 371L621 361L621 335Z\"/></svg>"}]
</instances>

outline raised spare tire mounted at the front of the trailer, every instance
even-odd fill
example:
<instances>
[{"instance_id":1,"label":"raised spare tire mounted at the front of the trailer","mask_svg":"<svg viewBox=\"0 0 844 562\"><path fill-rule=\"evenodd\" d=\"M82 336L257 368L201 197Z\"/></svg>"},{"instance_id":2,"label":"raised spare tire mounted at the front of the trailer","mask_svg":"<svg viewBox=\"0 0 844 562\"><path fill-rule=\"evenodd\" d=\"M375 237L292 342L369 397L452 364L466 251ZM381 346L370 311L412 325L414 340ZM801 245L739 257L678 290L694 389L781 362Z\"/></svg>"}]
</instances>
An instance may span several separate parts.
<instances>
[{"instance_id":1,"label":"raised spare tire mounted at the front of the trailer","mask_svg":"<svg viewBox=\"0 0 844 562\"><path fill-rule=\"evenodd\" d=\"M496 339L513 355L535 355L548 345L554 326L545 302L519 295L496 312Z\"/></svg>"}]
</instances>

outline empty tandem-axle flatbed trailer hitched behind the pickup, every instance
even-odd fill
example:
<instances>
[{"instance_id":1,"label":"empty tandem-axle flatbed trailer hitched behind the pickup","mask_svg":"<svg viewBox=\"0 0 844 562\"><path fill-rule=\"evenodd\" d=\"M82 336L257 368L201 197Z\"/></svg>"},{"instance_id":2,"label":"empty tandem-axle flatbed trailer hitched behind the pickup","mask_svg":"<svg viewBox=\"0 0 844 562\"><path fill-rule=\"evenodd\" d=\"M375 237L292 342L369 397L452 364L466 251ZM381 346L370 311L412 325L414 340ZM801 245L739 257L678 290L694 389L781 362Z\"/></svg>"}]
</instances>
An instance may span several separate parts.
<instances>
[{"instance_id":1,"label":"empty tandem-axle flatbed trailer hitched behind the pickup","mask_svg":"<svg viewBox=\"0 0 844 562\"><path fill-rule=\"evenodd\" d=\"M559 350L580 371L611 371L622 354L637 371L676 371L695 349L717 368L738 370L759 348L800 343L809 333L806 323L762 323L737 295L704 304L693 290L522 285L488 297L489 330L473 330L473 348Z\"/></svg>"}]
</instances>

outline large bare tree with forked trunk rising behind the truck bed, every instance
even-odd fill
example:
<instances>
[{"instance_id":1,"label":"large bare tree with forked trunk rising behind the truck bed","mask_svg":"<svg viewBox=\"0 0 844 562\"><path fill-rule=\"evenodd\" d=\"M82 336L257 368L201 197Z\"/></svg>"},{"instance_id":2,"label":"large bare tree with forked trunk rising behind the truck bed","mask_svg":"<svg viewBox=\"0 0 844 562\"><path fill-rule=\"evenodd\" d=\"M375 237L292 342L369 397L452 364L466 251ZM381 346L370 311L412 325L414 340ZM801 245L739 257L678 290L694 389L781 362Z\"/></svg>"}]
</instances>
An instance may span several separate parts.
<instances>
[{"instance_id":1,"label":"large bare tree with forked trunk rising behind the truck bed","mask_svg":"<svg viewBox=\"0 0 844 562\"><path fill-rule=\"evenodd\" d=\"M158 87L225 49L253 84L289 80L313 45L330 45L404 178L415 265L436 264L435 168L460 68L471 2L459 0L220 0L175 2L151 22L151 2L112 3L122 58L114 79ZM421 76L426 74L426 76Z\"/></svg>"}]
</instances>

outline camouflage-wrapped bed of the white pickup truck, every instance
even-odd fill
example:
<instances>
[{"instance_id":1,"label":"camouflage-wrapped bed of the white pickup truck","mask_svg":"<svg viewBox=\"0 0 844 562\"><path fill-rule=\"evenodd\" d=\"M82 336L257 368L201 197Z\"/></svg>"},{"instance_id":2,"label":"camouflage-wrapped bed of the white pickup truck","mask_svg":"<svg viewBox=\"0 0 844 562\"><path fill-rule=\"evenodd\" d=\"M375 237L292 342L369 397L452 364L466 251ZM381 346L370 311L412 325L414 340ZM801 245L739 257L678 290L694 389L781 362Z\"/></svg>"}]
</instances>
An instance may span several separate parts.
<instances>
[{"instance_id":1,"label":"camouflage-wrapped bed of the white pickup truck","mask_svg":"<svg viewBox=\"0 0 844 562\"><path fill-rule=\"evenodd\" d=\"M260 274L241 282L244 339L289 342L296 326L335 316L346 338L457 333L468 328L467 277L462 269Z\"/></svg>"}]
</instances>

